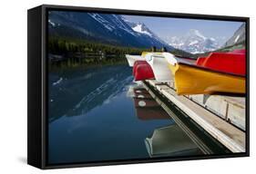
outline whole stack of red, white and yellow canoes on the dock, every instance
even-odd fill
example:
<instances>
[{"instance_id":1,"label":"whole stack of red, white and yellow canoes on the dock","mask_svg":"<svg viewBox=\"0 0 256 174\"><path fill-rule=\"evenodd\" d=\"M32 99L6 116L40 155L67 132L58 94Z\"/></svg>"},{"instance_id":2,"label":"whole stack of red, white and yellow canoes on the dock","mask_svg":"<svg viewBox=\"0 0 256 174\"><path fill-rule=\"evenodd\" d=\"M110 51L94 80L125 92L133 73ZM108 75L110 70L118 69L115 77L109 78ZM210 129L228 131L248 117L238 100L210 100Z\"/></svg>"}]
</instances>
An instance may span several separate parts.
<instances>
[{"instance_id":1,"label":"whole stack of red, white and yellow canoes on the dock","mask_svg":"<svg viewBox=\"0 0 256 174\"><path fill-rule=\"evenodd\" d=\"M194 63L172 53L126 55L135 81L175 82L178 94L246 92L246 51L210 53ZM138 59L137 59L138 58ZM132 59L132 61L131 61Z\"/></svg>"}]
</instances>

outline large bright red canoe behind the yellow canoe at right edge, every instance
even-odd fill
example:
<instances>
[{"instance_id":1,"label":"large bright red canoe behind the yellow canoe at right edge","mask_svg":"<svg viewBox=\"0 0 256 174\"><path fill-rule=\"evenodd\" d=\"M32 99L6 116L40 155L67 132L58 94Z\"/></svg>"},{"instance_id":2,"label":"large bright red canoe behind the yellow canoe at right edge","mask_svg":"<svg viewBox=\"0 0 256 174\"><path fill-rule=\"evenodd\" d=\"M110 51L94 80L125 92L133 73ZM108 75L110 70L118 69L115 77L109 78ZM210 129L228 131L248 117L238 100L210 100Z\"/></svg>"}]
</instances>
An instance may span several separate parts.
<instances>
[{"instance_id":1,"label":"large bright red canoe behind the yellow canoe at right edge","mask_svg":"<svg viewBox=\"0 0 256 174\"><path fill-rule=\"evenodd\" d=\"M210 53L207 57L200 57L197 65L224 73L245 75L245 50L235 50L229 53Z\"/></svg>"}]
</instances>

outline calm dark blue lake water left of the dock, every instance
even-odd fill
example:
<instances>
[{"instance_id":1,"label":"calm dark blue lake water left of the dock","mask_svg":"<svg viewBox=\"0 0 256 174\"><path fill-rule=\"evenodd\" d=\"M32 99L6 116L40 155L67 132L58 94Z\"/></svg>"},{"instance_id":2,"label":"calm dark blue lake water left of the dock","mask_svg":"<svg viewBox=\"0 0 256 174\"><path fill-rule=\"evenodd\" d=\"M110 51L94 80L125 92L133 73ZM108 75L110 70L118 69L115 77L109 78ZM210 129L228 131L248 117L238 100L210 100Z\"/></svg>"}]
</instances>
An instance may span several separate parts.
<instances>
[{"instance_id":1,"label":"calm dark blue lake water left of the dock","mask_svg":"<svg viewBox=\"0 0 256 174\"><path fill-rule=\"evenodd\" d=\"M49 163L154 156L146 139L152 138L155 130L170 128L175 122L133 82L131 74L127 65L49 73ZM158 131L154 139L166 132L169 131ZM159 144L152 147L157 151ZM160 154L164 155L164 149L160 147Z\"/></svg>"}]
</instances>

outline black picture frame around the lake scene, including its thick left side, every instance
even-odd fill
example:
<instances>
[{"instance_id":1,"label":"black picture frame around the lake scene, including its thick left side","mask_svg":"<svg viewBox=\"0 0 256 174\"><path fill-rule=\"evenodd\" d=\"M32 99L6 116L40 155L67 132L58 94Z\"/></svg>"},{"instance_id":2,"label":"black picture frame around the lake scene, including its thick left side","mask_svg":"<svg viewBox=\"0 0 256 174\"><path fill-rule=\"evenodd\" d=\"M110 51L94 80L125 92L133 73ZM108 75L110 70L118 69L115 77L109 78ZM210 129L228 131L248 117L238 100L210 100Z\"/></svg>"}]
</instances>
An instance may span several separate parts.
<instances>
[{"instance_id":1,"label":"black picture frame around the lake scene, including its thick left side","mask_svg":"<svg viewBox=\"0 0 256 174\"><path fill-rule=\"evenodd\" d=\"M246 24L246 152L202 157L175 157L147 160L112 160L49 165L47 163L47 11L65 10L114 14L168 16L188 19L238 21ZM39 169L135 164L177 160L206 160L250 156L250 18L209 14L179 14L64 5L40 5L27 11L27 163Z\"/></svg>"}]
</instances>

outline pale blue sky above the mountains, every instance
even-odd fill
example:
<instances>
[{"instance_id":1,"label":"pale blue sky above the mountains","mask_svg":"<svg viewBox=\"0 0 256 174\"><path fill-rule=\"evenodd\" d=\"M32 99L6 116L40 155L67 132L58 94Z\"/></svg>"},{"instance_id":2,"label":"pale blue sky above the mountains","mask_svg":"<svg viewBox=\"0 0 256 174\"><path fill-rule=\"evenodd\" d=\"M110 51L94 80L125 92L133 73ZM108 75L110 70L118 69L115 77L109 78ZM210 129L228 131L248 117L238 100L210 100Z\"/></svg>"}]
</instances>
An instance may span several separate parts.
<instances>
[{"instance_id":1,"label":"pale blue sky above the mountains","mask_svg":"<svg viewBox=\"0 0 256 174\"><path fill-rule=\"evenodd\" d=\"M169 17L150 17L139 15L125 15L128 21L142 22L148 28L159 35L160 38L181 36L187 34L189 29L197 29L207 37L226 37L229 39L232 34L241 26L241 22L227 22L214 20L180 19Z\"/></svg>"}]
</instances>

